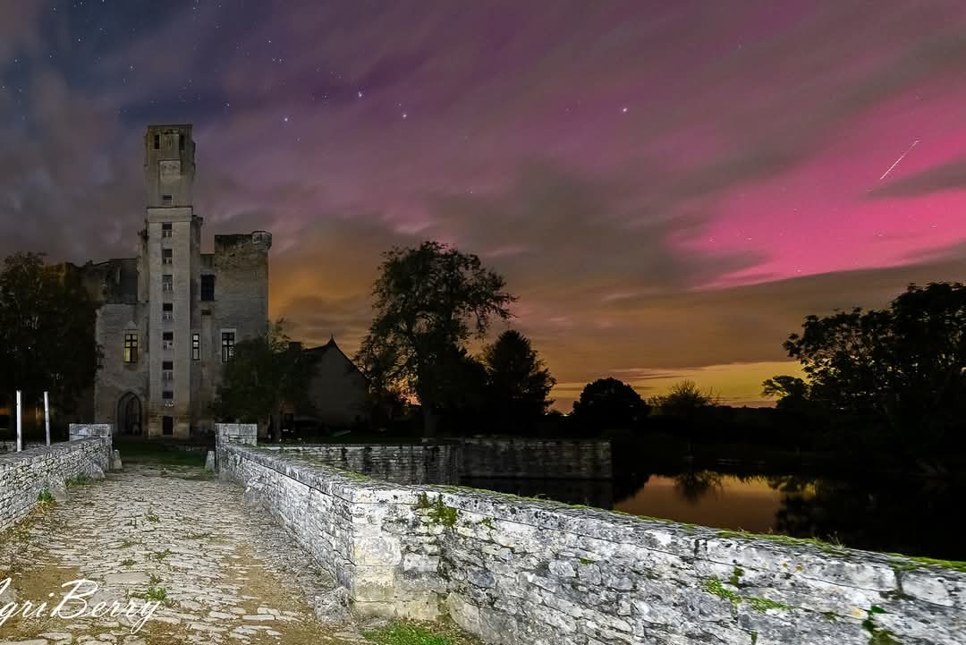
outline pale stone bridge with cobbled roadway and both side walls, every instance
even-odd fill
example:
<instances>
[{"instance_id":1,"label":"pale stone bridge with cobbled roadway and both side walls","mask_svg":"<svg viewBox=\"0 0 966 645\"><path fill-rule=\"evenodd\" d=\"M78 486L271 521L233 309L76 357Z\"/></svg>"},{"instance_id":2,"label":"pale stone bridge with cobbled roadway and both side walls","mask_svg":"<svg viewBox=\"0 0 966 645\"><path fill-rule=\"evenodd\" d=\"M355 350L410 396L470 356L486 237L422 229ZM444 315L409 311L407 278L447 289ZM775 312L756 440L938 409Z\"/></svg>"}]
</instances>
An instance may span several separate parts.
<instances>
[{"instance_id":1,"label":"pale stone bridge with cobbled roadway and both side walls","mask_svg":"<svg viewBox=\"0 0 966 645\"><path fill-rule=\"evenodd\" d=\"M21 610L0 644L351 643L379 617L504 645L966 643L957 563L379 481L246 426L218 428L217 478L72 438L0 456L0 621L75 579L156 612Z\"/></svg>"}]
</instances>

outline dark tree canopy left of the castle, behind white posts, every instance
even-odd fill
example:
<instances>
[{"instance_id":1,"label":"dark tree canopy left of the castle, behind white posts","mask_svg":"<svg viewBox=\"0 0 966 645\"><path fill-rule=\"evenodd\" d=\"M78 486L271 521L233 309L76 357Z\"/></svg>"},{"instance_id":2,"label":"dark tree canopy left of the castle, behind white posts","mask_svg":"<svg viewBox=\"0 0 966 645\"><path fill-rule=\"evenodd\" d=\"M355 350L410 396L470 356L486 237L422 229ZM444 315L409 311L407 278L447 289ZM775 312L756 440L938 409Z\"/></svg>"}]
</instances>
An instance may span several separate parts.
<instances>
[{"instance_id":1,"label":"dark tree canopy left of the castle, behind white posts","mask_svg":"<svg viewBox=\"0 0 966 645\"><path fill-rule=\"evenodd\" d=\"M17 253L0 270L0 398L22 390L26 401L50 393L70 410L94 384L100 357L97 310L68 265Z\"/></svg>"}]
</instances>

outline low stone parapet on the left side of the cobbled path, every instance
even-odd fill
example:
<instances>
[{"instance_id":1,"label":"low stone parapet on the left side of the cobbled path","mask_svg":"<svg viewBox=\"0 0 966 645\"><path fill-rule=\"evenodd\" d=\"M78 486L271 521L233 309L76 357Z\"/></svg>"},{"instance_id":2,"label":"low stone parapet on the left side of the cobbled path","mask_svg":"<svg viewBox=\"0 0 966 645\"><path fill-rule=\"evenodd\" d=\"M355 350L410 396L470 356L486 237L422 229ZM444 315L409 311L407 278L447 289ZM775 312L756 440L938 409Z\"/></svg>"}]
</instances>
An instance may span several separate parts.
<instances>
[{"instance_id":1,"label":"low stone parapet on the left side of the cobbled path","mask_svg":"<svg viewBox=\"0 0 966 645\"><path fill-rule=\"evenodd\" d=\"M102 436L0 454L0 531L29 514L44 489L62 489L80 475L102 476L110 459L110 438Z\"/></svg>"}]
</instances>

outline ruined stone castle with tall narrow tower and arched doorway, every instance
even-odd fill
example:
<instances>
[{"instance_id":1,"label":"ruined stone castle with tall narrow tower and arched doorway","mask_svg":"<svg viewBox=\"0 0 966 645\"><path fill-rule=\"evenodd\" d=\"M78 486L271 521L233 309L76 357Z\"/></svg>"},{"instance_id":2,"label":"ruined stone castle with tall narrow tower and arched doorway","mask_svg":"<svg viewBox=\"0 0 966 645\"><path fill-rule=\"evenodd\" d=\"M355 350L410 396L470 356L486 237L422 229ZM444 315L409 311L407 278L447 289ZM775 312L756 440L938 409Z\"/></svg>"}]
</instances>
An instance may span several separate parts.
<instances>
[{"instance_id":1,"label":"ruined stone castle with tall narrow tower and arched doorway","mask_svg":"<svg viewBox=\"0 0 966 645\"><path fill-rule=\"evenodd\" d=\"M211 432L222 363L266 330L271 235L214 236L202 253L194 173L191 126L148 126L138 257L82 269L103 352L94 416L119 435Z\"/></svg>"}]
</instances>

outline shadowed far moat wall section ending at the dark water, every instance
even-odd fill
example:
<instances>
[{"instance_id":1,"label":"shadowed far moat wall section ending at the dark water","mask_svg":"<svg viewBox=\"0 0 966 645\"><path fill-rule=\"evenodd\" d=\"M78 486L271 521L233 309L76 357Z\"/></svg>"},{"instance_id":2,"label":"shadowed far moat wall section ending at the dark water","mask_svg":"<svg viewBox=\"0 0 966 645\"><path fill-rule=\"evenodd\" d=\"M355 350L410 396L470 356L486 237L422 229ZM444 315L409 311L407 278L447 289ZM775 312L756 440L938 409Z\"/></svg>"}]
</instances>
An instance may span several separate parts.
<instances>
[{"instance_id":1,"label":"shadowed far moat wall section ending at the dark water","mask_svg":"<svg viewBox=\"0 0 966 645\"><path fill-rule=\"evenodd\" d=\"M466 438L461 475L468 478L611 479L607 440Z\"/></svg>"}]
</instances>

